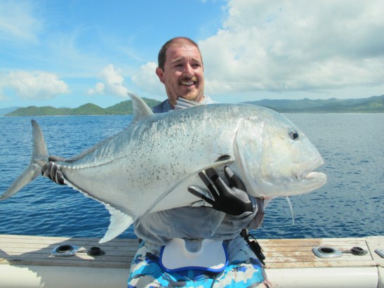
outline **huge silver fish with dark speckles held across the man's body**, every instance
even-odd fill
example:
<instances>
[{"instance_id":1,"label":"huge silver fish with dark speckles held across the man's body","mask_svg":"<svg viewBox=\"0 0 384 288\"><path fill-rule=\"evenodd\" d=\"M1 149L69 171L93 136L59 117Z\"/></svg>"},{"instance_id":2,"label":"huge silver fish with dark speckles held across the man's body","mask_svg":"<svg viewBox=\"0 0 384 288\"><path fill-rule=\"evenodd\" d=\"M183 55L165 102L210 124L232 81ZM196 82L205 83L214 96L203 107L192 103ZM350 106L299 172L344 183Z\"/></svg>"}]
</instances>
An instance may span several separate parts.
<instances>
[{"instance_id":1,"label":"huge silver fish with dark speckles held across the man's body","mask_svg":"<svg viewBox=\"0 0 384 288\"><path fill-rule=\"evenodd\" d=\"M313 171L324 163L319 152L277 112L255 105L196 104L153 114L143 100L131 99L134 118L124 131L69 162L58 162L67 185L110 211L110 226L100 242L117 237L139 216L199 201L187 187L204 187L197 174L209 167L230 166L251 196L267 199L303 194L326 183L325 174ZM41 175L48 162L34 120L32 131L32 160L0 200Z\"/></svg>"}]
</instances>

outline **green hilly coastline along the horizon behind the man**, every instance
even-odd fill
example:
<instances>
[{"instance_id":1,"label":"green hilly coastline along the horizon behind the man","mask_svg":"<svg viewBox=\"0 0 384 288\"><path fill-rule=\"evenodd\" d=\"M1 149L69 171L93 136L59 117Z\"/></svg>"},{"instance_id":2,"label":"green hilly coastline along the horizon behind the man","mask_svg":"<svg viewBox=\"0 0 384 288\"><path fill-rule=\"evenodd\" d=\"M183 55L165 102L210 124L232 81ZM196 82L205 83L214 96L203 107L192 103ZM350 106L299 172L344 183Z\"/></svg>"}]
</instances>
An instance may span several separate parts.
<instances>
[{"instance_id":1,"label":"green hilly coastline along the horizon behind the man","mask_svg":"<svg viewBox=\"0 0 384 288\"><path fill-rule=\"evenodd\" d=\"M160 101L154 99L143 98L143 100L150 107L160 103ZM310 100L307 98L302 100L265 99L246 103L267 107L280 113L384 113L384 95L346 100L336 98L327 100ZM7 111L9 109L4 108ZM92 103L77 108L15 107L15 110L7 112L5 116L126 115L132 113L132 101L126 100L107 108Z\"/></svg>"}]
</instances>

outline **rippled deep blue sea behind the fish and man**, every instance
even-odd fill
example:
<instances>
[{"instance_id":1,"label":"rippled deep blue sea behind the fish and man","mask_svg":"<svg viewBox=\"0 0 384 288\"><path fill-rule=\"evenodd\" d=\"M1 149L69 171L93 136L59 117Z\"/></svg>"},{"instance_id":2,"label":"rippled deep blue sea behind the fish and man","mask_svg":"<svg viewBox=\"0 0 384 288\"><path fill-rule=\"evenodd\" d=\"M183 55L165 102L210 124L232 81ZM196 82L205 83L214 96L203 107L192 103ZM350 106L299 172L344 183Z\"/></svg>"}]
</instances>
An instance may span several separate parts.
<instances>
[{"instance_id":1,"label":"rippled deep blue sea behind the fish and man","mask_svg":"<svg viewBox=\"0 0 384 288\"><path fill-rule=\"evenodd\" d=\"M322 188L266 209L259 238L384 235L384 114L285 114L317 147L328 176ZM124 129L131 116L34 117L50 155L72 157ZM32 149L31 117L0 117L0 193L22 173ZM102 237L104 206L39 177L0 202L0 234ZM134 237L132 228L119 237Z\"/></svg>"}]
</instances>

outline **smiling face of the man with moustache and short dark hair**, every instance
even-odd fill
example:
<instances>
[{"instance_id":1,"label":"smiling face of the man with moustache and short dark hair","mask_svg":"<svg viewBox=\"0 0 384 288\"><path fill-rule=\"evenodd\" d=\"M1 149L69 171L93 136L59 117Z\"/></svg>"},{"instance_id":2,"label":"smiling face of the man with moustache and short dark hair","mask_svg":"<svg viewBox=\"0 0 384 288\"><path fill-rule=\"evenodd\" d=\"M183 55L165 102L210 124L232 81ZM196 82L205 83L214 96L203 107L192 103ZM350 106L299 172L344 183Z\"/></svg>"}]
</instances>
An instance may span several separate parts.
<instances>
[{"instance_id":1,"label":"smiling face of the man with moustache and short dark hair","mask_svg":"<svg viewBox=\"0 0 384 288\"><path fill-rule=\"evenodd\" d=\"M157 67L157 76L166 86L171 105L178 97L200 101L204 95L204 67L197 47L190 44L170 46L166 51L164 70Z\"/></svg>"}]
</instances>

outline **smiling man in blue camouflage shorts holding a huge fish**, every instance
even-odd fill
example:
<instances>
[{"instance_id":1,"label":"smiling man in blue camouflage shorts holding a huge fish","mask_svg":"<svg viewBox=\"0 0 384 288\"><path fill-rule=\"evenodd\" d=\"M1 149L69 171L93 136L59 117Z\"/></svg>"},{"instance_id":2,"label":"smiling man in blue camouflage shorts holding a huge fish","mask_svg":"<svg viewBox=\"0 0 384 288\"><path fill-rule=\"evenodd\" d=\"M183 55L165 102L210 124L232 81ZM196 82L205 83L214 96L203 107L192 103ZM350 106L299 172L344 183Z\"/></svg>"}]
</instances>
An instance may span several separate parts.
<instances>
[{"instance_id":1,"label":"smiling man in blue camouflage shorts holding a huge fish","mask_svg":"<svg viewBox=\"0 0 384 288\"><path fill-rule=\"evenodd\" d=\"M159 51L156 74L165 86L168 99L153 108L155 113L173 110L178 98L201 104L214 103L211 98L204 96L203 60L199 47L191 39L177 37L167 41ZM135 221L135 234L144 241L131 264L128 287L257 287L258 284L259 287L268 287L260 261L239 235L244 228L257 228L260 225L263 205L260 200L250 199L246 195L244 185L227 167L225 175L234 188L223 184L213 169L207 169L206 174L199 174L211 194L219 191L220 199L206 197L199 188L188 189L205 199L211 207L159 211ZM234 211L234 207L239 207L241 211ZM181 244L176 244L176 248L172 241L175 238L182 240ZM204 239L224 242L228 256L225 268L220 271L201 268L206 258L213 256L209 253L202 256L199 269L169 270L164 267L162 252L168 246L172 245L169 253L177 257L175 261L183 266L183 251L196 242L201 245ZM188 263L188 259L185 260Z\"/></svg>"}]
</instances>

